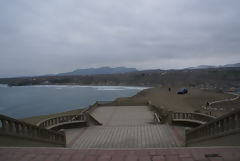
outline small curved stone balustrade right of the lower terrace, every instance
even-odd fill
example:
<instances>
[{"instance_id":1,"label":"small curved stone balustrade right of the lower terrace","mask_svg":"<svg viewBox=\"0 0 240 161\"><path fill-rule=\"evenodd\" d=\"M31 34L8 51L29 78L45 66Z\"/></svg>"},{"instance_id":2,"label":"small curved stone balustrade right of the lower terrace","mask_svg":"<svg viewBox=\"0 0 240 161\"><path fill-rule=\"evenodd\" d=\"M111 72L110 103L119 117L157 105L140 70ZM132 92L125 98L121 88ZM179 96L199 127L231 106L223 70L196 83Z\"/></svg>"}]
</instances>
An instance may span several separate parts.
<instances>
[{"instance_id":1,"label":"small curved stone balustrade right of the lower terrace","mask_svg":"<svg viewBox=\"0 0 240 161\"><path fill-rule=\"evenodd\" d=\"M172 121L192 121L199 124L205 124L213 119L215 117L201 114L201 113L184 113L184 112L171 112L170 117Z\"/></svg>"}]
</instances>

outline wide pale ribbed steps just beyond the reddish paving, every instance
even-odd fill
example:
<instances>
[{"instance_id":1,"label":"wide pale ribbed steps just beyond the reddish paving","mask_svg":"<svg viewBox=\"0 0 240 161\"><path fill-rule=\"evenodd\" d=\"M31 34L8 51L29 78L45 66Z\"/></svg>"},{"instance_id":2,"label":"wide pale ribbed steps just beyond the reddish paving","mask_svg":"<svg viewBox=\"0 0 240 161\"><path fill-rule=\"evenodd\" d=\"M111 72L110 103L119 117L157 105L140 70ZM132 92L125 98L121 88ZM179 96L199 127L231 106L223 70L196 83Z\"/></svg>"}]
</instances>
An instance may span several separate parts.
<instances>
[{"instance_id":1,"label":"wide pale ribbed steps just beyond the reddish paving","mask_svg":"<svg viewBox=\"0 0 240 161\"><path fill-rule=\"evenodd\" d=\"M65 130L71 148L164 148L184 146L185 130L169 125L91 126Z\"/></svg>"}]
</instances>

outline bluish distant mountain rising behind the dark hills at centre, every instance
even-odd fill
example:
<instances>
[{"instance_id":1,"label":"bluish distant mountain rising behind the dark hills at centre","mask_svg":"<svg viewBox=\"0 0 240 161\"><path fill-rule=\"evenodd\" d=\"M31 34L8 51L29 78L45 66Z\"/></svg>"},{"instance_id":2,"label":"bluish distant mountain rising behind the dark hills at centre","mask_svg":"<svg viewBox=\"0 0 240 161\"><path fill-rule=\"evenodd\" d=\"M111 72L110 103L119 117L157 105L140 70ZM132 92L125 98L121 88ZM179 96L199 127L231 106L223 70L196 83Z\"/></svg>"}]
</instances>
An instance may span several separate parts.
<instances>
[{"instance_id":1,"label":"bluish distant mountain rising behind the dark hills at centre","mask_svg":"<svg viewBox=\"0 0 240 161\"><path fill-rule=\"evenodd\" d=\"M59 73L57 76L71 76L71 75L96 75L96 74L116 74L116 73L128 73L136 72L136 68L126 68L126 67L100 67L100 68L87 68L87 69L77 69L72 72Z\"/></svg>"}]
</instances>

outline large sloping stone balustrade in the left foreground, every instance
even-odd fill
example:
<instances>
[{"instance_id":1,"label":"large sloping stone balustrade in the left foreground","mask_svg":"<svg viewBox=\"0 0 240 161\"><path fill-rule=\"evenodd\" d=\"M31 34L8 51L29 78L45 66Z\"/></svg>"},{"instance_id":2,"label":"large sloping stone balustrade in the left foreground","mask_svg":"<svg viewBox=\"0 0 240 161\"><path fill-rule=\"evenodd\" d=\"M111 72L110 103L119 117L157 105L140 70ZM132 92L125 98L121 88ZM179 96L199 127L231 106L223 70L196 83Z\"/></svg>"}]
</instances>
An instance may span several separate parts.
<instances>
[{"instance_id":1,"label":"large sloping stone balustrade in the left foreground","mask_svg":"<svg viewBox=\"0 0 240 161\"><path fill-rule=\"evenodd\" d=\"M14 140L16 143L21 140L31 140L32 142L45 142L46 144L56 146L66 146L64 133L47 130L4 115L0 115L0 136L2 144L6 140L10 140L13 144Z\"/></svg>"}]
</instances>

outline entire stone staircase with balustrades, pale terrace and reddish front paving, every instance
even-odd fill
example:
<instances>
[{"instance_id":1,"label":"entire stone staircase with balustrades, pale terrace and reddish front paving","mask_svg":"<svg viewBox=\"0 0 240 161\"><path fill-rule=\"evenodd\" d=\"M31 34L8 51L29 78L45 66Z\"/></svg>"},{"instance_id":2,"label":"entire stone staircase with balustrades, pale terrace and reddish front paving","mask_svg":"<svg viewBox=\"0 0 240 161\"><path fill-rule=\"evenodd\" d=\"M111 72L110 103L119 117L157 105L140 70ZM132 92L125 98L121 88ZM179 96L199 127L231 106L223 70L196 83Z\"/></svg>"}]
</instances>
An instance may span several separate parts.
<instances>
[{"instance_id":1,"label":"entire stone staircase with balustrades, pale terrace and reddish front paving","mask_svg":"<svg viewBox=\"0 0 240 161\"><path fill-rule=\"evenodd\" d=\"M45 146L43 148L1 147L0 161L240 160L240 109L220 118L211 119L198 128L187 130L187 140L185 140L184 127L154 124L154 114L148 106L99 108L92 106L89 109L85 111L87 115L79 119L76 116L64 116L61 119L52 118L42 122L42 126L46 127L55 126L54 124L65 126L74 121L87 122L89 118L95 123L89 127L66 129L64 133L0 115L2 146L7 142L11 142L12 146L14 144ZM199 118L195 114L178 113L171 116L180 121ZM221 146L228 145L228 147L183 147L185 142L190 146L206 146L205 143L211 146L215 145L214 140L220 142ZM227 143L236 146L230 147ZM67 148L49 148L49 146L67 146Z\"/></svg>"}]
</instances>

